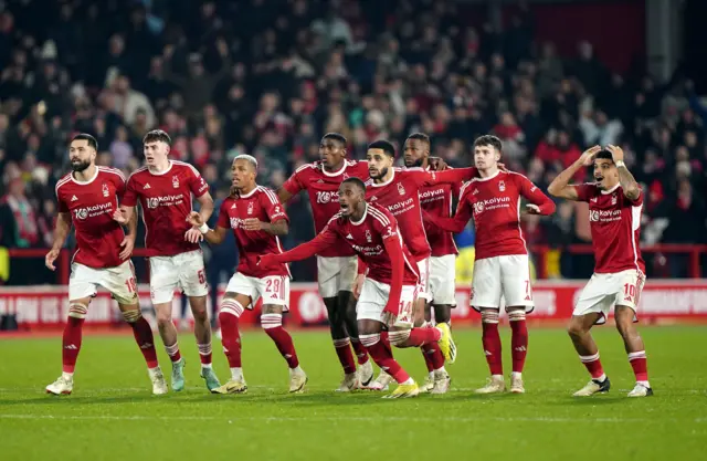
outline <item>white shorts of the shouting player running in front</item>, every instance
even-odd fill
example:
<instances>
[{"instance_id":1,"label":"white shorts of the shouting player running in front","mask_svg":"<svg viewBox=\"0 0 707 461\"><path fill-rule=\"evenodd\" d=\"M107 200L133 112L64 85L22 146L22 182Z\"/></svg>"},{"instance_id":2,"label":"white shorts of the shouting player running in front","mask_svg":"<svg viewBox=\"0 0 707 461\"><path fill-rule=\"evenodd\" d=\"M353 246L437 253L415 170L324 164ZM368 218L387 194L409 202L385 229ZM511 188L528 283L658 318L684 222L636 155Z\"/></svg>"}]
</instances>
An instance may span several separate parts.
<instances>
[{"instance_id":1,"label":"white shorts of the shouting player running in front","mask_svg":"<svg viewBox=\"0 0 707 461\"><path fill-rule=\"evenodd\" d=\"M412 304L418 297L418 286L403 285L400 293L400 313L394 326L412 328ZM366 277L361 295L356 304L357 319L383 322L383 310L390 296L390 285Z\"/></svg>"}]
</instances>

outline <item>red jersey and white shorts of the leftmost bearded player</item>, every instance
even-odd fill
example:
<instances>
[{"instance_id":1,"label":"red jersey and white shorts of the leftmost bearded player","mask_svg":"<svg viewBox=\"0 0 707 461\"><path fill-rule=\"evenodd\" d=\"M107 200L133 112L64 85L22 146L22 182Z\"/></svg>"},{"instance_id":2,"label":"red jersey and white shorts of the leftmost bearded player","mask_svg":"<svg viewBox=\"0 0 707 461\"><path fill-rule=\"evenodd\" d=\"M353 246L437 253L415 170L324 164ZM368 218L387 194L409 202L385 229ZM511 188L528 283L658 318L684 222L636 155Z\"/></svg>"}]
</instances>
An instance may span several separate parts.
<instances>
[{"instance_id":1,"label":"red jersey and white shorts of the leftmost bearded player","mask_svg":"<svg viewBox=\"0 0 707 461\"><path fill-rule=\"evenodd\" d=\"M114 168L96 167L89 180L78 181L68 174L55 190L59 211L71 212L76 230L68 298L93 297L103 286L120 304L137 303L133 263L119 256L125 232L113 219L125 193L125 176Z\"/></svg>"}]
</instances>

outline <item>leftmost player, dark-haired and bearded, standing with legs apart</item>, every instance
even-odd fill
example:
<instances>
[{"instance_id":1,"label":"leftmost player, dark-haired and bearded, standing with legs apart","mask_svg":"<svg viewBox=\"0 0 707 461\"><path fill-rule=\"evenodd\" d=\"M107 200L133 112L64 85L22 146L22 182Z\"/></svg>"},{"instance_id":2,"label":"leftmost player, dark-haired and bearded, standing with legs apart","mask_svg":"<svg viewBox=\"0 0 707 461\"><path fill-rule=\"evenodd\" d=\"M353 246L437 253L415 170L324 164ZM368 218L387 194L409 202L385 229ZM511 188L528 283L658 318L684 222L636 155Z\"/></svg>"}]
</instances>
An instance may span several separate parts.
<instances>
[{"instance_id":1,"label":"leftmost player, dark-haired and bearded, standing with legs apart","mask_svg":"<svg viewBox=\"0 0 707 461\"><path fill-rule=\"evenodd\" d=\"M167 394L167 384L157 364L152 329L140 313L135 272L129 260L137 221L133 219L127 223L126 235L112 218L118 209L118 199L125 193L125 177L117 169L97 167L97 149L98 143L93 136L75 136L68 147L73 172L56 182L59 214L54 244L45 258L46 266L52 271L56 269L54 261L72 224L76 230L78 249L72 259L68 279L68 318L62 339L63 373L46 386L46 392L72 392L84 319L97 286L103 286L118 302L123 318L133 328L135 340L147 362L152 394Z\"/></svg>"}]
</instances>

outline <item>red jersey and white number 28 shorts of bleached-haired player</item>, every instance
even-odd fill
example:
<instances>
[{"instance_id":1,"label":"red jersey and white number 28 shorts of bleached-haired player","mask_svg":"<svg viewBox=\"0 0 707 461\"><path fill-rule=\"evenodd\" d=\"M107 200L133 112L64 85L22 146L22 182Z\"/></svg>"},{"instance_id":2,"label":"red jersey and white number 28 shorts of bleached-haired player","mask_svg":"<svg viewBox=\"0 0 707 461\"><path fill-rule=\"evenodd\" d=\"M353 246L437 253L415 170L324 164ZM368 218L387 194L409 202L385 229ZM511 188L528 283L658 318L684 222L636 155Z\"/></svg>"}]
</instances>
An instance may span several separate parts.
<instances>
[{"instance_id":1,"label":"red jersey and white number 28 shorts of bleached-haired player","mask_svg":"<svg viewBox=\"0 0 707 461\"><path fill-rule=\"evenodd\" d=\"M240 293L251 297L250 308L257 300L264 304L289 306L289 270L286 264L263 269L257 258L263 254L279 254L282 247L277 235L263 230L249 231L244 221L256 218L262 222L275 222L281 219L289 221L279 205L275 192L257 186L247 195L226 198L221 205L218 227L231 229L239 247L239 266L229 281L226 292ZM249 306L243 306L249 307Z\"/></svg>"}]
</instances>

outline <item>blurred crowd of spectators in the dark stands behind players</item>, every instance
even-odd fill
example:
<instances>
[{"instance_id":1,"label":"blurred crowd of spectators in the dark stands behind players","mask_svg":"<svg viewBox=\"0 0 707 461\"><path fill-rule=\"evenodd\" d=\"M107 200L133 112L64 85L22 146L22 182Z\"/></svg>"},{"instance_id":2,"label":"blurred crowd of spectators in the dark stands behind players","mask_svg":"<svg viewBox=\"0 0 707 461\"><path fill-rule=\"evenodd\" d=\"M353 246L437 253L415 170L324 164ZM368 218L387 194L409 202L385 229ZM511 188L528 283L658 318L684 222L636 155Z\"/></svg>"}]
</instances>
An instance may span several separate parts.
<instances>
[{"instance_id":1,"label":"blurred crowd of spectators in the dark stands behind players","mask_svg":"<svg viewBox=\"0 0 707 461\"><path fill-rule=\"evenodd\" d=\"M474 138L493 133L506 166L542 188L587 147L614 144L646 190L642 240L706 242L707 107L689 81L677 72L669 82L614 74L588 42L560 57L552 43L534 41L523 11L497 31L467 27L455 8L441 0L0 2L0 247L51 245L54 185L68 170L73 134L96 136L98 164L129 174L155 127L172 137L173 158L202 172L217 209L234 156L255 156L260 182L276 188L318 159L327 132L348 138L352 158L376 139L400 147L424 132L451 166L469 165ZM561 202L549 219L528 217L527 240L559 249L589 241L588 217L577 210ZM314 234L306 200L289 216L288 248ZM471 232L461 239L473 242ZM230 271L234 253L231 241L208 265ZM650 276L687 276L685 260L663 260L654 258ZM556 275L580 275L578 261L563 253ZM314 263L294 272L312 280ZM14 275L10 283L33 282L27 270Z\"/></svg>"}]
</instances>

